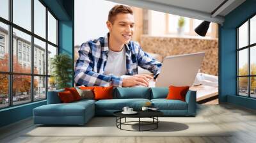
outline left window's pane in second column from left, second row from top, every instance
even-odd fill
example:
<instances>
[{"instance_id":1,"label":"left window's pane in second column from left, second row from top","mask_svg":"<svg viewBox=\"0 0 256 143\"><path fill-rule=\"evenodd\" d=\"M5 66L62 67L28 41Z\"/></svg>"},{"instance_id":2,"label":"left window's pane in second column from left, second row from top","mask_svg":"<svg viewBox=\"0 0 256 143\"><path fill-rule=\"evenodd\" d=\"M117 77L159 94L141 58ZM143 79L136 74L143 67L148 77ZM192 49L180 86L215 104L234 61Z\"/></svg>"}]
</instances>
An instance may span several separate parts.
<instances>
[{"instance_id":1,"label":"left window's pane in second column from left, second row from top","mask_svg":"<svg viewBox=\"0 0 256 143\"><path fill-rule=\"evenodd\" d=\"M31 36L15 28L13 28L13 72L31 73Z\"/></svg>"}]
</instances>

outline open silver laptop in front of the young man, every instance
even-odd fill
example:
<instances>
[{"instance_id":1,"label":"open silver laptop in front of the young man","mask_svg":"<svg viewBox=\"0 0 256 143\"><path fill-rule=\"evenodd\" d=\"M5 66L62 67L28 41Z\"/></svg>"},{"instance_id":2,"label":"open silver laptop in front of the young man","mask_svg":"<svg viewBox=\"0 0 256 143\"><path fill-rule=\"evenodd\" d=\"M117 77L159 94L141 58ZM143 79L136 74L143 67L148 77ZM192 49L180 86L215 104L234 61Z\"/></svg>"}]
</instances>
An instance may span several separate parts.
<instances>
[{"instance_id":1,"label":"open silver laptop in front of the young man","mask_svg":"<svg viewBox=\"0 0 256 143\"><path fill-rule=\"evenodd\" d=\"M205 52L168 56L164 58L156 87L192 86Z\"/></svg>"}]
</instances>

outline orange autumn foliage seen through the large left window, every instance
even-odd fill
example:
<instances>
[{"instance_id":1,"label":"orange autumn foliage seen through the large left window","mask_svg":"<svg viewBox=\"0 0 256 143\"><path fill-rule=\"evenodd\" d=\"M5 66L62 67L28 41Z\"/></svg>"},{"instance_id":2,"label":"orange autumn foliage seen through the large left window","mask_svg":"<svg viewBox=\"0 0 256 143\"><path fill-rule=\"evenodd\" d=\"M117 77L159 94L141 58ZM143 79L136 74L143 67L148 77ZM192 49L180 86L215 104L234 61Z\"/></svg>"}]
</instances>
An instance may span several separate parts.
<instances>
[{"instance_id":1,"label":"orange autumn foliage seen through the large left window","mask_svg":"<svg viewBox=\"0 0 256 143\"><path fill-rule=\"evenodd\" d=\"M0 71L8 72L9 68L8 54L4 55L4 59L0 59ZM28 68L29 67L29 68ZM14 73L31 73L30 66L22 67L16 56L13 56L13 72ZM37 71L36 71L37 73ZM0 93L8 94L8 74L0 74ZM38 81L34 80L34 88L38 86ZM13 75L13 95L16 93L30 92L31 76L30 75Z\"/></svg>"}]
</instances>

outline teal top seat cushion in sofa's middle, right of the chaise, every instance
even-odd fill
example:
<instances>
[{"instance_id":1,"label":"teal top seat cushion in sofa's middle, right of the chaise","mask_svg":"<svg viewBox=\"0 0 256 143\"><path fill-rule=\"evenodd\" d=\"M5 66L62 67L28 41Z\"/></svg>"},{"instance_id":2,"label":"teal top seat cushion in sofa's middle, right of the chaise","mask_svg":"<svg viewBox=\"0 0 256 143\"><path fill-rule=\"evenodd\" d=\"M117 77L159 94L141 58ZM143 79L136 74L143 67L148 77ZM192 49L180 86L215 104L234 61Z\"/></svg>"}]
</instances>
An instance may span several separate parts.
<instances>
[{"instance_id":1,"label":"teal top seat cushion in sofa's middle, right of the chaise","mask_svg":"<svg viewBox=\"0 0 256 143\"><path fill-rule=\"evenodd\" d=\"M111 99L111 100L99 100L95 102L95 109L104 110L122 110L123 107L128 106L135 110L141 109L146 102L150 102L148 99Z\"/></svg>"}]
</instances>

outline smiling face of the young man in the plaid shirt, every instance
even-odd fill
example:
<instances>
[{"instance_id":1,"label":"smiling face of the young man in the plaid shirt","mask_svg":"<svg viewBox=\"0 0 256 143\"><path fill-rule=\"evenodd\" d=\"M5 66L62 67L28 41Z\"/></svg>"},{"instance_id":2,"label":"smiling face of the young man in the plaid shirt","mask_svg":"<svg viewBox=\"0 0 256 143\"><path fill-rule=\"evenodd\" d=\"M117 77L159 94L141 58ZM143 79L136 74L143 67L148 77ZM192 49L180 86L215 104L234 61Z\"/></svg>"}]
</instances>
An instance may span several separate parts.
<instances>
[{"instance_id":1,"label":"smiling face of the young man in the plaid shirt","mask_svg":"<svg viewBox=\"0 0 256 143\"><path fill-rule=\"evenodd\" d=\"M133 34L134 17L130 13L118 13L113 24L108 21L107 26L109 33L116 42L126 44L129 43Z\"/></svg>"}]
</instances>

